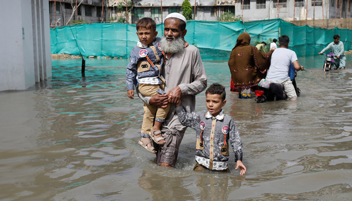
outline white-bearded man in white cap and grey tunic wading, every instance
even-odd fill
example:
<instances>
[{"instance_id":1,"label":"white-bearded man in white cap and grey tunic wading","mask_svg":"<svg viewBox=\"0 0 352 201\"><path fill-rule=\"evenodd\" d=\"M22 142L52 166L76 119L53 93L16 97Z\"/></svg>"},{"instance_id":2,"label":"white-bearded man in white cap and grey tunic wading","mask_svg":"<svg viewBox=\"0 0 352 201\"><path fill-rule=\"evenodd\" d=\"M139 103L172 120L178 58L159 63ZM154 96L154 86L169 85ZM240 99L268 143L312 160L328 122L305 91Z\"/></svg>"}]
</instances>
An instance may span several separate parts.
<instances>
[{"instance_id":1,"label":"white-bearded man in white cap and grey tunic wading","mask_svg":"<svg viewBox=\"0 0 352 201\"><path fill-rule=\"evenodd\" d=\"M186 18L179 13L171 13L165 18L164 36L160 40L161 47L166 53L166 62L162 70L165 78L166 93L152 97L143 96L137 91L143 102L158 108L165 108L168 102L172 103L165 122L162 123L162 137L166 143L157 147L157 164L174 167L179 154L179 147L187 127L183 126L175 113L175 104L180 100L187 112L193 112L196 106L195 95L207 87L207 75L199 50L190 45L184 48Z\"/></svg>"}]
</instances>

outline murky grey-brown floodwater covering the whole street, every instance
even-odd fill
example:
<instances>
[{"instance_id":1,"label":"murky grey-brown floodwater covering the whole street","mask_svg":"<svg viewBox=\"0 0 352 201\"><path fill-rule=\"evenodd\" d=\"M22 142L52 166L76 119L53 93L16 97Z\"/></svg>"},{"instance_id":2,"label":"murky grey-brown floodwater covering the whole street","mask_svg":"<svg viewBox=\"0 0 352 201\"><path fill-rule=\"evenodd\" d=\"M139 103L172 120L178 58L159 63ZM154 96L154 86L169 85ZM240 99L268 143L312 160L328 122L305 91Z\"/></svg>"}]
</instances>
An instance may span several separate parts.
<instances>
[{"instance_id":1,"label":"murky grey-brown floodwater covering the whole street","mask_svg":"<svg viewBox=\"0 0 352 201\"><path fill-rule=\"evenodd\" d=\"M299 58L301 96L263 104L230 92L226 60L204 61L208 85L226 86L241 176L233 153L231 173L194 172L191 129L176 168L156 165L138 145L143 104L127 97L127 59L87 59L84 80L81 60L52 60L52 80L0 93L0 200L351 200L351 61L324 73L322 56Z\"/></svg>"}]
</instances>

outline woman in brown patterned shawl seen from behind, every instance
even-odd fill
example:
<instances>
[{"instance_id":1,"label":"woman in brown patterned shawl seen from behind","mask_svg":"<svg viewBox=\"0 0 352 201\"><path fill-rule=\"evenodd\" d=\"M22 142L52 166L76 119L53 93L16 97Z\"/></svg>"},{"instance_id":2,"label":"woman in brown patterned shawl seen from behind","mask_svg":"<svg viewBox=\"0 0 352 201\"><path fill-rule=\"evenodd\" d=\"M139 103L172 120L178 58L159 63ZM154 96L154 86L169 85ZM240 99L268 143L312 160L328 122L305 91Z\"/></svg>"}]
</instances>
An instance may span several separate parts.
<instances>
[{"instance_id":1,"label":"woman in brown patterned shawl seen from behind","mask_svg":"<svg viewBox=\"0 0 352 201\"><path fill-rule=\"evenodd\" d=\"M274 50L267 54L249 45L248 33L242 33L231 51L228 65L231 71L231 91L238 90L240 98L250 98L250 87L265 78Z\"/></svg>"}]
</instances>

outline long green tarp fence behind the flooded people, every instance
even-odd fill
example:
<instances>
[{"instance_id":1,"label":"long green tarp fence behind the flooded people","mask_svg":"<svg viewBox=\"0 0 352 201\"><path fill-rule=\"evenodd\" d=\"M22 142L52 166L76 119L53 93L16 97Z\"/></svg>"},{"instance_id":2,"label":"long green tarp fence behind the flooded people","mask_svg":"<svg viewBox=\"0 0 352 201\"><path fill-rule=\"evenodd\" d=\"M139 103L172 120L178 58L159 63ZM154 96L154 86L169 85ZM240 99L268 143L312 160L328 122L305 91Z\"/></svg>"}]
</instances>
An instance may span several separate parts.
<instances>
[{"instance_id":1,"label":"long green tarp fence behind the flooded people","mask_svg":"<svg viewBox=\"0 0 352 201\"><path fill-rule=\"evenodd\" d=\"M158 24L158 37L162 36L163 24ZM196 45L203 59L228 58L236 44L237 37L249 33L251 43L256 40L279 39L279 35L290 37L290 49L297 56L310 56L320 52L333 41L333 35L340 35L344 49L352 49L352 30L322 29L309 26L296 26L281 19L252 22L209 22L188 21L185 40ZM73 34L72 34L73 33ZM74 41L83 57L109 56L128 58L137 44L136 25L121 23L96 23L50 29L51 53L79 55ZM269 44L268 44L269 45Z\"/></svg>"}]
</instances>

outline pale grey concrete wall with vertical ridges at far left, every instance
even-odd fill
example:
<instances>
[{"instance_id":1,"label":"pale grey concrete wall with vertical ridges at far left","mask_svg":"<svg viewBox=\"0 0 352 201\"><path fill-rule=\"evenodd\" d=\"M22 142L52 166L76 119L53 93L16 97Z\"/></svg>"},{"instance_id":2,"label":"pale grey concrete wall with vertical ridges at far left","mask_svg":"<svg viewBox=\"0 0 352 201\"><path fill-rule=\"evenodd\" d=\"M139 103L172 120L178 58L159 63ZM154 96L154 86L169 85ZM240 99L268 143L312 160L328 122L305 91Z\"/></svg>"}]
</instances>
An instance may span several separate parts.
<instances>
[{"instance_id":1,"label":"pale grey concrete wall with vertical ridges at far left","mask_svg":"<svg viewBox=\"0 0 352 201\"><path fill-rule=\"evenodd\" d=\"M24 90L51 77L49 4L0 3L0 91Z\"/></svg>"}]
</instances>

